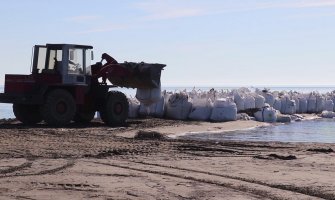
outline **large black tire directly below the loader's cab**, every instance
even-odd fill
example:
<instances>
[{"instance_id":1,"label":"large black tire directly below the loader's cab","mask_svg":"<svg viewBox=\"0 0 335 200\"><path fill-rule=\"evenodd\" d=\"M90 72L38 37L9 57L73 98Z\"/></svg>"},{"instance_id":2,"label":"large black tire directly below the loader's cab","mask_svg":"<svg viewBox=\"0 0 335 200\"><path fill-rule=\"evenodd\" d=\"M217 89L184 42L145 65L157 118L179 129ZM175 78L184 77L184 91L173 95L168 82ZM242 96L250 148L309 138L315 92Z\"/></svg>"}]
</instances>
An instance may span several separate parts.
<instances>
[{"instance_id":1,"label":"large black tire directly below the loader's cab","mask_svg":"<svg viewBox=\"0 0 335 200\"><path fill-rule=\"evenodd\" d=\"M64 126L71 122L76 114L76 102L66 90L51 91L43 106L41 115L44 121L54 126Z\"/></svg>"}]
</instances>

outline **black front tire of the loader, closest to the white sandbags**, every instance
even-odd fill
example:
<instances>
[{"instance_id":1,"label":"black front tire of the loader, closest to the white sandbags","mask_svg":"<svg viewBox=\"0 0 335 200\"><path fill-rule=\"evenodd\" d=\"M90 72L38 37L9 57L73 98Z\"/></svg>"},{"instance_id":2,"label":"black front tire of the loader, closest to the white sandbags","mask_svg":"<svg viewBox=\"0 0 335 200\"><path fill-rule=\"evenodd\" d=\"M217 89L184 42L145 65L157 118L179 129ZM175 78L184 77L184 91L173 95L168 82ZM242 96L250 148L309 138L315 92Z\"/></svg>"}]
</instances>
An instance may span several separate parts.
<instances>
[{"instance_id":1,"label":"black front tire of the loader, closest to the white sandbags","mask_svg":"<svg viewBox=\"0 0 335 200\"><path fill-rule=\"evenodd\" d=\"M100 110L100 116L109 126L122 126L128 118L129 104L127 97L119 91L111 91Z\"/></svg>"}]
</instances>

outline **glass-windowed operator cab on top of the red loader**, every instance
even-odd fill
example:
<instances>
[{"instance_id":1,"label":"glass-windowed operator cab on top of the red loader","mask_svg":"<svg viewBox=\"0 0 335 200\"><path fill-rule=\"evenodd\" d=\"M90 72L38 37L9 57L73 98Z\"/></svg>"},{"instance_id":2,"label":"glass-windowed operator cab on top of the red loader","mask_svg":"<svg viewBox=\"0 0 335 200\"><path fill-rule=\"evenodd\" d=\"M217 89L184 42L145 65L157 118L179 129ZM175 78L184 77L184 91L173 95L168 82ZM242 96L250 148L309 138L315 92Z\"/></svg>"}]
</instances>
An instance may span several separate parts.
<instances>
[{"instance_id":1,"label":"glass-windowed operator cab on top of the red loader","mask_svg":"<svg viewBox=\"0 0 335 200\"><path fill-rule=\"evenodd\" d=\"M93 47L73 44L34 46L32 74L60 77L65 85L86 85Z\"/></svg>"}]
</instances>

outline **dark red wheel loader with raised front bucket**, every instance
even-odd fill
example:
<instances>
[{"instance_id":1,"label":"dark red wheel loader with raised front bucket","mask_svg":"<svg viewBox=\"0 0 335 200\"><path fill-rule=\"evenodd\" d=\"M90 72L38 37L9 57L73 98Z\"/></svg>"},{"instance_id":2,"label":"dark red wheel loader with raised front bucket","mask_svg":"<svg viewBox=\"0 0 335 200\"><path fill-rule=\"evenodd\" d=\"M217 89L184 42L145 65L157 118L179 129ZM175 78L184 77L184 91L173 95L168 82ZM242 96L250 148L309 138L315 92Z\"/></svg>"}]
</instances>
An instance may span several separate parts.
<instances>
[{"instance_id":1,"label":"dark red wheel loader with raised front bucket","mask_svg":"<svg viewBox=\"0 0 335 200\"><path fill-rule=\"evenodd\" d=\"M6 74L0 103L12 103L16 118L28 125L43 120L53 126L88 123L96 111L110 126L124 124L128 100L110 88L160 87L165 65L118 63L106 53L101 62L91 65L92 49L75 44L34 46L31 74Z\"/></svg>"}]
</instances>

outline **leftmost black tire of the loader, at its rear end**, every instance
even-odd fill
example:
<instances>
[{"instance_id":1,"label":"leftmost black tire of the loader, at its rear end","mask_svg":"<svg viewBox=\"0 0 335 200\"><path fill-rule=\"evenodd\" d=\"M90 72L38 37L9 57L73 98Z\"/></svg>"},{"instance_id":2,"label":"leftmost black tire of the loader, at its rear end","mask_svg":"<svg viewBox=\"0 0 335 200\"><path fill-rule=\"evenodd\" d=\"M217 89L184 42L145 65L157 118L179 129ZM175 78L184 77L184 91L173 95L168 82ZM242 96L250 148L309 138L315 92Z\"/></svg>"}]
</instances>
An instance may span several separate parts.
<instances>
[{"instance_id":1,"label":"leftmost black tire of the loader, at its rear end","mask_svg":"<svg viewBox=\"0 0 335 200\"><path fill-rule=\"evenodd\" d=\"M38 105L13 104L13 112L16 119L26 125L34 125L42 121Z\"/></svg>"}]
</instances>

